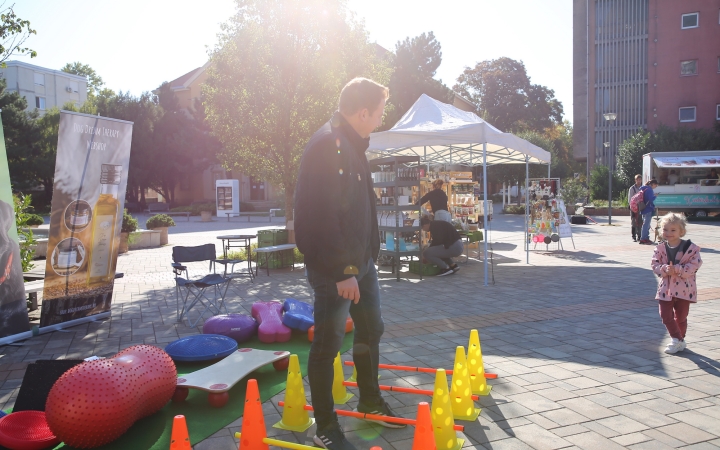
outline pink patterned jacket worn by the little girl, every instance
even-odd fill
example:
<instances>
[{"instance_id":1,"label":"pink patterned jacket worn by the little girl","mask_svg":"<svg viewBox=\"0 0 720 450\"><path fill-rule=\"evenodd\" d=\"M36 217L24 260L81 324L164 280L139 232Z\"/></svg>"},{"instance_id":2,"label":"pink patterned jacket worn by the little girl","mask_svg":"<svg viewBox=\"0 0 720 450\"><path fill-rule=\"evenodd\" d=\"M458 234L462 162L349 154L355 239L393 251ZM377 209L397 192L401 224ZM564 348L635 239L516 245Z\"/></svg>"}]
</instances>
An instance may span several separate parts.
<instances>
[{"instance_id":1,"label":"pink patterned jacket worn by the little girl","mask_svg":"<svg viewBox=\"0 0 720 450\"><path fill-rule=\"evenodd\" d=\"M697 284L695 283L695 273L702 266L702 259L700 258L700 247L688 241L690 246L687 251L683 253L683 244L678 250L676 260L680 261L680 264L675 267L680 267L682 272L680 275L672 273L666 273L666 267L668 267L668 256L665 250L665 244L659 244L655 247L655 253L652 259L652 269L655 274L660 277L660 283L658 284L658 291L655 295L656 300L672 300L673 297L677 297L690 302L697 301Z\"/></svg>"}]
</instances>

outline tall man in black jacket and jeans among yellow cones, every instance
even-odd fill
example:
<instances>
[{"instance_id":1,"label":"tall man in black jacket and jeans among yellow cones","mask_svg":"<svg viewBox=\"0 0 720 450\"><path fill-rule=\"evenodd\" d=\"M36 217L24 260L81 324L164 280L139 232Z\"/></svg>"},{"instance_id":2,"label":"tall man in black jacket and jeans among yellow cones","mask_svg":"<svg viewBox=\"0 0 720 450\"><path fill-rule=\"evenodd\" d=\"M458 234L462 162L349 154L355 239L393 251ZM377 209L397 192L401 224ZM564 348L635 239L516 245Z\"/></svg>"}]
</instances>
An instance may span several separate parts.
<instances>
[{"instance_id":1,"label":"tall man in black jacket and jeans among yellow cones","mask_svg":"<svg viewBox=\"0 0 720 450\"><path fill-rule=\"evenodd\" d=\"M355 322L357 409L395 417L378 386L379 344L385 329L375 269L380 237L365 157L370 133L382 123L387 98L386 87L365 78L345 85L338 111L305 147L295 191L295 240L315 296L315 336L308 358L317 423L313 440L331 450L355 450L340 429L332 396L333 360L348 313Z\"/></svg>"}]
</instances>

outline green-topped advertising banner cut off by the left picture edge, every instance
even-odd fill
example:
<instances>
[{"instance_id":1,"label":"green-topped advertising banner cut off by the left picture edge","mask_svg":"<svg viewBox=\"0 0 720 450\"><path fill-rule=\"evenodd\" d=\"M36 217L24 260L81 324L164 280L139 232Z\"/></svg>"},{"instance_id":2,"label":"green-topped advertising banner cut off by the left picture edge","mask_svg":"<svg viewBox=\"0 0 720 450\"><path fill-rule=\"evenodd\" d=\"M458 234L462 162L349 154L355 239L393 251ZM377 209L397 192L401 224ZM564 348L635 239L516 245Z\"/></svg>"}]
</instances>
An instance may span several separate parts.
<instances>
[{"instance_id":1,"label":"green-topped advertising banner cut off by the left picture edge","mask_svg":"<svg viewBox=\"0 0 720 450\"><path fill-rule=\"evenodd\" d=\"M0 338L30 330L5 135L0 121Z\"/></svg>"}]
</instances>

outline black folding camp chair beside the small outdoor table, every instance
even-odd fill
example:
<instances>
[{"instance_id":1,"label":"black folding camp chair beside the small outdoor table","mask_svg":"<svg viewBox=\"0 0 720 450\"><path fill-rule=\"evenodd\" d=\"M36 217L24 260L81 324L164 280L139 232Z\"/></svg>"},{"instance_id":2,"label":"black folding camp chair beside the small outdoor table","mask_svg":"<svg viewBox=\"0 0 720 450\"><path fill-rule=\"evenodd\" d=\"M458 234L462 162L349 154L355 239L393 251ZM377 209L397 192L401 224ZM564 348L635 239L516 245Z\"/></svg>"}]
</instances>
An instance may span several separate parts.
<instances>
[{"instance_id":1,"label":"black folding camp chair beside the small outdoor table","mask_svg":"<svg viewBox=\"0 0 720 450\"><path fill-rule=\"evenodd\" d=\"M196 247L173 247L172 268L175 273L178 322L182 322L183 317L188 315L192 308L200 305L204 309L195 320L195 323L191 323L188 316L188 324L191 327L196 326L207 311L210 311L213 315L220 314L222 310L227 313L225 294L227 294L231 279L216 273L209 273L200 279L191 280L187 266L182 264L208 261L210 264L208 271L210 271L214 267L215 258L215 244L198 245ZM185 275L185 277L183 278L182 275ZM205 291L209 288L214 291L212 297L206 295Z\"/></svg>"}]
</instances>

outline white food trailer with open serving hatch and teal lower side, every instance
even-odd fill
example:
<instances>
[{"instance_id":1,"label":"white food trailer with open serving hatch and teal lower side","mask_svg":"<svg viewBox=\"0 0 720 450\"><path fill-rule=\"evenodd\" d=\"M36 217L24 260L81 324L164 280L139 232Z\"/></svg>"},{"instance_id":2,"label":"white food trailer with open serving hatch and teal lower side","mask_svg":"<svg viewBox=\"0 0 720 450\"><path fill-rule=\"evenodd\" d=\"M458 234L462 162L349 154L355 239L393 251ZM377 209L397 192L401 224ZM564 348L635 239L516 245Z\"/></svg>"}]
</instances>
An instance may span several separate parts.
<instances>
[{"instance_id":1,"label":"white food trailer with open serving hatch and teal lower side","mask_svg":"<svg viewBox=\"0 0 720 450\"><path fill-rule=\"evenodd\" d=\"M643 184L655 178L660 185L658 209L705 217L720 211L720 181L710 171L720 172L720 150L654 152L643 155Z\"/></svg>"}]
</instances>

